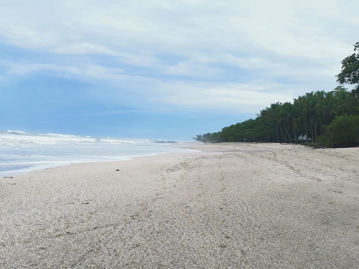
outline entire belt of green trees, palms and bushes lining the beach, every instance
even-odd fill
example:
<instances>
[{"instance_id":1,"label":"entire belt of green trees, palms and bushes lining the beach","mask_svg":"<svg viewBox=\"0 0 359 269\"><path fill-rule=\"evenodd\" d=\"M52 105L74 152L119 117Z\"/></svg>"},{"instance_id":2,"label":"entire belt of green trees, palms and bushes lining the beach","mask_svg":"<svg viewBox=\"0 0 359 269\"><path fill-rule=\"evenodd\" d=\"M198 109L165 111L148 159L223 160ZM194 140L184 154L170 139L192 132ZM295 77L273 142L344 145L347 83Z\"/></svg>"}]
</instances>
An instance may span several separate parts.
<instances>
[{"instance_id":1,"label":"entire belt of green trees, palms and bushes lining the beach","mask_svg":"<svg viewBox=\"0 0 359 269\"><path fill-rule=\"evenodd\" d=\"M232 124L222 131L194 137L207 142L311 142L323 146L352 146L359 142L359 42L342 62L337 82L352 84L348 91L306 93L292 102L275 103L255 119ZM298 140L299 138L299 140Z\"/></svg>"}]
</instances>

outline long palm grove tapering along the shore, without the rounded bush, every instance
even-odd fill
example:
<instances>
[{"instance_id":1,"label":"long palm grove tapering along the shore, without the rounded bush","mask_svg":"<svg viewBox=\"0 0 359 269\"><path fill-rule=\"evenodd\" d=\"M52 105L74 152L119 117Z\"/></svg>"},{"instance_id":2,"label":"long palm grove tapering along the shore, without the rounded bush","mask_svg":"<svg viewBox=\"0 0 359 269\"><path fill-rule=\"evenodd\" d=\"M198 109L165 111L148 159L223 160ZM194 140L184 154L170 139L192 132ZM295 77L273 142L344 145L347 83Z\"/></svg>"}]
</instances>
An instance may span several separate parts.
<instances>
[{"instance_id":1,"label":"long palm grove tapering along the shore, without the rounded bush","mask_svg":"<svg viewBox=\"0 0 359 269\"><path fill-rule=\"evenodd\" d=\"M255 119L232 124L220 132L205 133L194 137L205 142L298 142L307 136L312 145L321 145L323 126L329 125L341 115L355 115L358 110L351 93L342 86L333 91L316 91L298 96L292 103L271 104ZM316 143L317 137L320 140ZM325 142L326 143L326 142Z\"/></svg>"}]
</instances>

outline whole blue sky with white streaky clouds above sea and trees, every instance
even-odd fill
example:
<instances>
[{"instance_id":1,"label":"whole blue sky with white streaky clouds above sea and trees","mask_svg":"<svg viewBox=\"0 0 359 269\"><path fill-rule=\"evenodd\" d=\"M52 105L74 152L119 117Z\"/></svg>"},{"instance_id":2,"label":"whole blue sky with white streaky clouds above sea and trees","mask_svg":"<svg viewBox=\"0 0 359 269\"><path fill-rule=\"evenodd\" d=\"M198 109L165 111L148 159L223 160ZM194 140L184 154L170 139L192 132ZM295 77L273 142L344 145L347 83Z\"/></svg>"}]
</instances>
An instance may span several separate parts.
<instances>
[{"instance_id":1,"label":"whole blue sky with white streaky clouds above sea and trees","mask_svg":"<svg viewBox=\"0 0 359 269\"><path fill-rule=\"evenodd\" d=\"M189 141L334 89L358 1L0 0L0 129Z\"/></svg>"}]
</instances>

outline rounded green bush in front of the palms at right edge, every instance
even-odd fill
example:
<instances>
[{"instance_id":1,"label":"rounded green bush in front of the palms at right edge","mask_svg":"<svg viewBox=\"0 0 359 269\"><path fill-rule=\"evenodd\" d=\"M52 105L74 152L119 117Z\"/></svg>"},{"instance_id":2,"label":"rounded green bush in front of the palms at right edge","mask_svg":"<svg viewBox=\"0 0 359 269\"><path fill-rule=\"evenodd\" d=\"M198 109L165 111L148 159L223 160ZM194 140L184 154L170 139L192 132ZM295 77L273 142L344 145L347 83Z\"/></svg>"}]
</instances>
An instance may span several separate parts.
<instances>
[{"instance_id":1,"label":"rounded green bush in front of the palms at right edge","mask_svg":"<svg viewBox=\"0 0 359 269\"><path fill-rule=\"evenodd\" d=\"M343 115L325 127L325 132L318 137L318 143L326 147L347 147L358 145L359 115Z\"/></svg>"}]
</instances>

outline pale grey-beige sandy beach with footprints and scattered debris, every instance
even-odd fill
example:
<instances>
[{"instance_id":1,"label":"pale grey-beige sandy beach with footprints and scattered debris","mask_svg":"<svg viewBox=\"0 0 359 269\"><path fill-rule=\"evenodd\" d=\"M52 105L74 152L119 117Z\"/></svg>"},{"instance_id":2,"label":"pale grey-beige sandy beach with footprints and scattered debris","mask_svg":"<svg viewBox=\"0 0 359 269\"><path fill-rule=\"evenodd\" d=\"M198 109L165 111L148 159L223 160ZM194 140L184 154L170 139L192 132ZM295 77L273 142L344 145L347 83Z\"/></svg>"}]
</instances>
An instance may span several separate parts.
<instances>
[{"instance_id":1,"label":"pale grey-beige sandy beach with footprints and scattered debris","mask_svg":"<svg viewBox=\"0 0 359 269\"><path fill-rule=\"evenodd\" d=\"M359 268L359 148L177 147L1 178L0 268Z\"/></svg>"}]
</instances>

